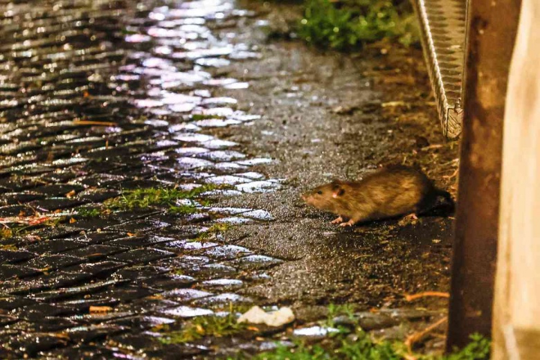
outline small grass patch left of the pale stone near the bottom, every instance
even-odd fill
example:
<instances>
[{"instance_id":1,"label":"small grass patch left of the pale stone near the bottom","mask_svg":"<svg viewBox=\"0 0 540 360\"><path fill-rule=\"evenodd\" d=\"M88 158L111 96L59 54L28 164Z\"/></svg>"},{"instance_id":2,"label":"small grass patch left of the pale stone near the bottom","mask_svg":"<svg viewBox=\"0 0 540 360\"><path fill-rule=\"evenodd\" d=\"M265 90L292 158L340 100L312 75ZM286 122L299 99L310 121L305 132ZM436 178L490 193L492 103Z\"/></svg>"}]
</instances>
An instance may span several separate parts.
<instances>
[{"instance_id":1,"label":"small grass patch left of the pale stone near the bottom","mask_svg":"<svg viewBox=\"0 0 540 360\"><path fill-rule=\"evenodd\" d=\"M164 327L161 330L164 336L158 341L163 344L190 343L204 336L229 336L246 329L246 323L236 322L235 312L231 306L230 312L225 316L197 316L186 323L181 330L168 332L168 329Z\"/></svg>"}]
</instances>

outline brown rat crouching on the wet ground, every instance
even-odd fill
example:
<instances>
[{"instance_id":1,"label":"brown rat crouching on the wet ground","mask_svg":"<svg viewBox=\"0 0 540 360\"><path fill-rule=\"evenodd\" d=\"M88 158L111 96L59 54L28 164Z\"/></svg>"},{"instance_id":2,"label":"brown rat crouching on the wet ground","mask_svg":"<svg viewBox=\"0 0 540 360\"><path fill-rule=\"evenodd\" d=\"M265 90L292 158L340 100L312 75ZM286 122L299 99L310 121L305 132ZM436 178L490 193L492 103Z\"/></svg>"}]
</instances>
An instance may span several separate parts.
<instances>
[{"instance_id":1,"label":"brown rat crouching on the wet ground","mask_svg":"<svg viewBox=\"0 0 540 360\"><path fill-rule=\"evenodd\" d=\"M435 187L420 170L405 165L381 168L361 181L334 180L302 195L307 204L338 215L332 224L340 226L400 215L416 219L435 208L439 197L453 208L449 192Z\"/></svg>"}]
</instances>

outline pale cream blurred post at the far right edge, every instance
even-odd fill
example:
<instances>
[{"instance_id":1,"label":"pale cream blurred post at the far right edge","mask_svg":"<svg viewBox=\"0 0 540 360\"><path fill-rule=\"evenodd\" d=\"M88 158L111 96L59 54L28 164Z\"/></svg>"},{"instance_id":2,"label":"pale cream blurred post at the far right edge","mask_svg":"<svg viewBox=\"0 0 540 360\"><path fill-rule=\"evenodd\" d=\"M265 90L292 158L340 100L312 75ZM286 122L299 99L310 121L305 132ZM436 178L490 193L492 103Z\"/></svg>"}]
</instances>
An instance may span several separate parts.
<instances>
[{"instance_id":1,"label":"pale cream blurred post at the far right edge","mask_svg":"<svg viewBox=\"0 0 540 360\"><path fill-rule=\"evenodd\" d=\"M493 359L540 358L540 3L523 0L508 80Z\"/></svg>"}]
</instances>

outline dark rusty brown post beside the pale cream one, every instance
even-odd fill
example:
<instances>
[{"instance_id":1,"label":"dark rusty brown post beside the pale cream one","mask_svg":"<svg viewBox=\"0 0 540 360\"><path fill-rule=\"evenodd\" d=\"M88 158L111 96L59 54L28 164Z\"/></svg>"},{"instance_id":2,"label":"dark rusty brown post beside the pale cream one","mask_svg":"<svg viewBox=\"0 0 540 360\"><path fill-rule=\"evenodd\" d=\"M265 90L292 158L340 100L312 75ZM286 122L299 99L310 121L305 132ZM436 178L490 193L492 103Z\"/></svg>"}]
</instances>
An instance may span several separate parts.
<instances>
[{"instance_id":1,"label":"dark rusty brown post beside the pale cream one","mask_svg":"<svg viewBox=\"0 0 540 360\"><path fill-rule=\"evenodd\" d=\"M448 350L474 332L491 334L503 115L519 6L519 0L469 3Z\"/></svg>"}]
</instances>

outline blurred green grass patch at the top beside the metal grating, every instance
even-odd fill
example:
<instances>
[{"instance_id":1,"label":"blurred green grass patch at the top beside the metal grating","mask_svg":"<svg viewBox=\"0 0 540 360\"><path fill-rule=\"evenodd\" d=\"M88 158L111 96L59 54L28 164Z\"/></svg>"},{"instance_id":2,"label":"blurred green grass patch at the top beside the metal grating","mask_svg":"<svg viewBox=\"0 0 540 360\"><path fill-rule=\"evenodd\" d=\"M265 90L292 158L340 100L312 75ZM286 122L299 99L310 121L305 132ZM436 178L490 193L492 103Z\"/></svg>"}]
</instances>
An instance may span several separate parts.
<instances>
[{"instance_id":1,"label":"blurred green grass patch at the top beside the metal grating","mask_svg":"<svg viewBox=\"0 0 540 360\"><path fill-rule=\"evenodd\" d=\"M419 28L406 0L307 0L298 35L323 48L350 51L388 39L419 42Z\"/></svg>"}]
</instances>

